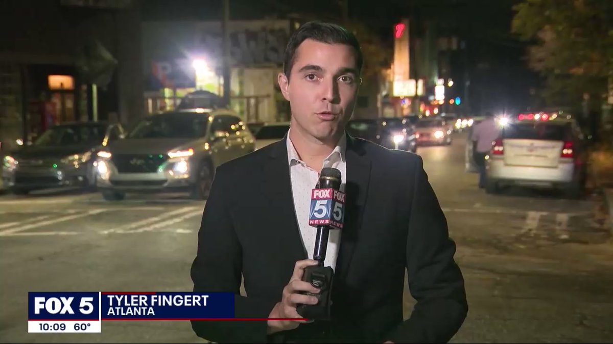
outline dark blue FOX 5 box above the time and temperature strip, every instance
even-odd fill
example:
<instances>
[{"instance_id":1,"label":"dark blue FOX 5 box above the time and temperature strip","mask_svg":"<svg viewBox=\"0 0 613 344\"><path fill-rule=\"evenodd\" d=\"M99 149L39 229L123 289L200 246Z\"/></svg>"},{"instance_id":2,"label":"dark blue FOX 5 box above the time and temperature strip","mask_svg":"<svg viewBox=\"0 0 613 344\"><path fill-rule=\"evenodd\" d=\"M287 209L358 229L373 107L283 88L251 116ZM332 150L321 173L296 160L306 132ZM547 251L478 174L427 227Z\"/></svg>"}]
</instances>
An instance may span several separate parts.
<instances>
[{"instance_id":1,"label":"dark blue FOX 5 box above the time and temperature strip","mask_svg":"<svg viewBox=\"0 0 613 344\"><path fill-rule=\"evenodd\" d=\"M100 320L100 293L28 293L28 320Z\"/></svg>"}]
</instances>

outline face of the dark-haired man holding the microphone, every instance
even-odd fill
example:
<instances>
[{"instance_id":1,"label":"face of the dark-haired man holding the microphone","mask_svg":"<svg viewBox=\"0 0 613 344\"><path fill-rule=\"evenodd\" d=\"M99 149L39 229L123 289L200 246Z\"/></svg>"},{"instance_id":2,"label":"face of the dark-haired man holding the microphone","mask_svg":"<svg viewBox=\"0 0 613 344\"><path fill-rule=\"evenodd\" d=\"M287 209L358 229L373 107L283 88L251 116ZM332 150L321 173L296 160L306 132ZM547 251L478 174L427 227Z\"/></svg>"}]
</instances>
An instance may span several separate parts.
<instances>
[{"instance_id":1,"label":"face of the dark-haired man holding the microphone","mask_svg":"<svg viewBox=\"0 0 613 344\"><path fill-rule=\"evenodd\" d=\"M289 81L283 73L278 81L292 127L321 142L339 138L360 84L352 47L307 39L296 50Z\"/></svg>"}]
</instances>

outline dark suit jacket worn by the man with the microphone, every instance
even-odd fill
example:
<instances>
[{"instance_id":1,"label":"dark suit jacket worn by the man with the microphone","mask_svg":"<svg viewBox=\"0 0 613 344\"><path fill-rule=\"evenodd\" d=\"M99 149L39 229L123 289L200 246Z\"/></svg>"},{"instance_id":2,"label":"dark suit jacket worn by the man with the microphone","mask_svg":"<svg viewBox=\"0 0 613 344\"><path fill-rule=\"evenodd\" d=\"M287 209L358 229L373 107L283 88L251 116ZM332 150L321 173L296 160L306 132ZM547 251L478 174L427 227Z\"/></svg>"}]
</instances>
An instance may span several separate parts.
<instances>
[{"instance_id":1,"label":"dark suit jacket worn by the man with the microphone","mask_svg":"<svg viewBox=\"0 0 613 344\"><path fill-rule=\"evenodd\" d=\"M347 204L333 321L267 336L266 321L192 321L213 342L447 342L465 320L455 243L419 155L348 136ZM194 291L235 296L237 318L267 318L307 259L286 141L219 166L202 216ZM405 270L417 304L403 321ZM241 273L247 296L240 296Z\"/></svg>"}]
</instances>

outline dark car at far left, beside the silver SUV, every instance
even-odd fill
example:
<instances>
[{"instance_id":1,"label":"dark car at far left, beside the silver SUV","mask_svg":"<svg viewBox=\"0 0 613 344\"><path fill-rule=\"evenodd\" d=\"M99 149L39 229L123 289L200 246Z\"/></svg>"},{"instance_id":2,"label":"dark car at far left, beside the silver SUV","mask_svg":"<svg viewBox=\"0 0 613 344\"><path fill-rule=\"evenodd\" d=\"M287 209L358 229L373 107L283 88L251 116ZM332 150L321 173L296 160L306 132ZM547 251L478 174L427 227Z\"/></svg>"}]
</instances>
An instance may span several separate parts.
<instances>
[{"instance_id":1,"label":"dark car at far left, beside the silver SUV","mask_svg":"<svg viewBox=\"0 0 613 344\"><path fill-rule=\"evenodd\" d=\"M120 141L121 124L71 122L46 130L32 144L4 156L2 184L18 195L51 187L93 187L99 149Z\"/></svg>"}]
</instances>

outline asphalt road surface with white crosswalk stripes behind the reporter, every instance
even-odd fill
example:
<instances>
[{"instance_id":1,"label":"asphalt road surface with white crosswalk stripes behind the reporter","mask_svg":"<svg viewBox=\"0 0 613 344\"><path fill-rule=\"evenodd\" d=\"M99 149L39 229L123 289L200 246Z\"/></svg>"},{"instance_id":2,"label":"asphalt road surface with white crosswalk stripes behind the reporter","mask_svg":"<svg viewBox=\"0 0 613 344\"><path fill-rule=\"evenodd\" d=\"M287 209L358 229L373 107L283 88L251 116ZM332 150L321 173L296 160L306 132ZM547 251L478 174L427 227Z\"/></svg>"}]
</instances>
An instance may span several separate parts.
<instances>
[{"instance_id":1,"label":"asphalt road surface with white crosswalk stripes behind the reporter","mask_svg":"<svg viewBox=\"0 0 613 344\"><path fill-rule=\"evenodd\" d=\"M419 148L458 245L470 311L452 342L613 342L613 244L596 201L465 173L465 137ZM105 321L101 334L28 334L28 291L189 291L204 202L50 190L0 196L0 341L202 342L186 321ZM405 297L406 316L413 299Z\"/></svg>"}]
</instances>

